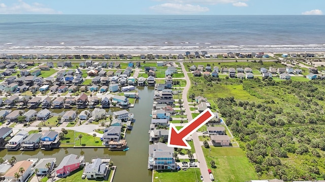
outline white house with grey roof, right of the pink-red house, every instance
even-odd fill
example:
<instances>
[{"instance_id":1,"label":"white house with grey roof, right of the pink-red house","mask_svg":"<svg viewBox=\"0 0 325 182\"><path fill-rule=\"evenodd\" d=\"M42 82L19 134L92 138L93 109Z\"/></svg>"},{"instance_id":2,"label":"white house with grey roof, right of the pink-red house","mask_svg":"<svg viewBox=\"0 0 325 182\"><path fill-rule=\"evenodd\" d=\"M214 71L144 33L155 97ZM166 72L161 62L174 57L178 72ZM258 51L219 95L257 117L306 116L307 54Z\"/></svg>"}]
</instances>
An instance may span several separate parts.
<instances>
[{"instance_id":1,"label":"white house with grey roof, right of the pink-red house","mask_svg":"<svg viewBox=\"0 0 325 182\"><path fill-rule=\"evenodd\" d=\"M108 174L110 169L109 167L109 160L107 161L97 158L92 161L91 164L86 164L84 167L84 172L86 173L87 179L96 179L96 178L102 178L104 179L108 178Z\"/></svg>"}]
</instances>

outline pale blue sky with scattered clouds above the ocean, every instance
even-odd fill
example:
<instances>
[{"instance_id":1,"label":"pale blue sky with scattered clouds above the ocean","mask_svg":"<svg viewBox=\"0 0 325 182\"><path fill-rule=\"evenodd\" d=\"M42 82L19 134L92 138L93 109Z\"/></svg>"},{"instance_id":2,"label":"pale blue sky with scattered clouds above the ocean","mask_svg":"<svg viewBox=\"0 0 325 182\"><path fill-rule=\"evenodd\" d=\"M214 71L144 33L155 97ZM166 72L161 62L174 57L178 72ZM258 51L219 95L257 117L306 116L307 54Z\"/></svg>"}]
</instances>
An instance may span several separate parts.
<instances>
[{"instance_id":1,"label":"pale blue sky with scattered clouds above the ocean","mask_svg":"<svg viewBox=\"0 0 325 182\"><path fill-rule=\"evenodd\" d=\"M0 14L322 15L323 0L0 0Z\"/></svg>"}]
</instances>

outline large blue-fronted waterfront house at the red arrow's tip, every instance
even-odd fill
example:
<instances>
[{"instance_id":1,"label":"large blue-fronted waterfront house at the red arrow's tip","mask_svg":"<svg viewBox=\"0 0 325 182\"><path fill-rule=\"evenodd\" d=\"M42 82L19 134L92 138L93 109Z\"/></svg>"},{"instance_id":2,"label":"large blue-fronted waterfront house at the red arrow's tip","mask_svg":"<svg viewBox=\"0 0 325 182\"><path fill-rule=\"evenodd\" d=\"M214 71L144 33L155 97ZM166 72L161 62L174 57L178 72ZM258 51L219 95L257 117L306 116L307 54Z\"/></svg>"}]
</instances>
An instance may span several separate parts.
<instances>
[{"instance_id":1,"label":"large blue-fronted waterfront house at the red arrow's tip","mask_svg":"<svg viewBox=\"0 0 325 182\"><path fill-rule=\"evenodd\" d=\"M164 143L149 145L148 169L164 170L175 169L174 148Z\"/></svg>"}]
</instances>

